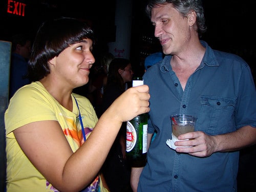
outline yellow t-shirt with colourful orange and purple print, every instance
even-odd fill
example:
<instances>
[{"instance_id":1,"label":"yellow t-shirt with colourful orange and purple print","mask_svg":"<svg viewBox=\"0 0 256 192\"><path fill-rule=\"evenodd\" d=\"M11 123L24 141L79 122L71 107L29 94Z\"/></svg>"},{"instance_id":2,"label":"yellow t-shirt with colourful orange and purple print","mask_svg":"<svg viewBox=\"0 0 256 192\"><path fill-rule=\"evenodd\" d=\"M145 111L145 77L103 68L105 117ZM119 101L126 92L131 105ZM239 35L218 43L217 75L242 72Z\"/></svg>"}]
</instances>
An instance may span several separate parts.
<instances>
[{"instance_id":1,"label":"yellow t-shirt with colourful orange and purple print","mask_svg":"<svg viewBox=\"0 0 256 192\"><path fill-rule=\"evenodd\" d=\"M84 131L88 138L98 118L90 101L83 96L72 94L79 105ZM83 143L79 111L73 99L73 112L63 108L39 81L32 82L19 89L10 100L5 112L6 153L7 153L7 191L58 191L55 189L20 149L13 131L25 124L56 120L62 127L73 152ZM40 149L38 149L40 150ZM44 158L44 157L42 157ZM83 191L107 191L100 177Z\"/></svg>"}]
</instances>

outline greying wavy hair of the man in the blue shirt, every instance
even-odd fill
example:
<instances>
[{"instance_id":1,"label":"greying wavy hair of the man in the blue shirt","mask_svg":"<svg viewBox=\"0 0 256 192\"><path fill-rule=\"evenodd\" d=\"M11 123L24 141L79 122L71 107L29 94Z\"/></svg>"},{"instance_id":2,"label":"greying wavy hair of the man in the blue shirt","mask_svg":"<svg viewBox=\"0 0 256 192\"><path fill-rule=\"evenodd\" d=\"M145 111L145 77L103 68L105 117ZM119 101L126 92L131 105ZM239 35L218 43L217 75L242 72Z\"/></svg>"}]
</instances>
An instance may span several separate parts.
<instances>
[{"instance_id":1,"label":"greying wavy hair of the man in the blue shirt","mask_svg":"<svg viewBox=\"0 0 256 192\"><path fill-rule=\"evenodd\" d=\"M151 18L151 10L157 5L173 4L174 8L186 17L190 10L197 14L197 32L201 36L206 31L204 10L201 0L149 0L145 8L146 14Z\"/></svg>"}]
</instances>

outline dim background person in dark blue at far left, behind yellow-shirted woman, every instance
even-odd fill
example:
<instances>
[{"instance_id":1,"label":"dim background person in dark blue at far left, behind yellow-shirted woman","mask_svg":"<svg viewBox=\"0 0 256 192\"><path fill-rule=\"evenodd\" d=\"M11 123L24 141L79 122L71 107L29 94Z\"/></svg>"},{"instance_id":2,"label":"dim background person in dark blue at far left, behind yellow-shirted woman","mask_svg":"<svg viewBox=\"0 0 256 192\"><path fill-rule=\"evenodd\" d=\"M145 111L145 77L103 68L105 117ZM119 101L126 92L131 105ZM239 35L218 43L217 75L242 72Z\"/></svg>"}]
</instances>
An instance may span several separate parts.
<instances>
[{"instance_id":1,"label":"dim background person in dark blue at far left, behind yellow-shirted woman","mask_svg":"<svg viewBox=\"0 0 256 192\"><path fill-rule=\"evenodd\" d=\"M30 83L27 78L28 58L31 50L31 40L24 34L12 36L12 55L10 68L9 98L25 84Z\"/></svg>"}]
</instances>

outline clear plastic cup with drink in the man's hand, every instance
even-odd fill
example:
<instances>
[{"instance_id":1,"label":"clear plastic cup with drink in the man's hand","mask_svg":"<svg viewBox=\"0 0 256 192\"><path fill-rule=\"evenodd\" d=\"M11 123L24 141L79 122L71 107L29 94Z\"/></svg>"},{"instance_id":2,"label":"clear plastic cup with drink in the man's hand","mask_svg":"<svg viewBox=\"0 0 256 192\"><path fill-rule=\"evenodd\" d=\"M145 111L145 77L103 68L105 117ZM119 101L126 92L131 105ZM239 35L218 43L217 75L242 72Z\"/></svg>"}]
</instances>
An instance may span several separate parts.
<instances>
[{"instance_id":1,"label":"clear plastic cup with drink in the man's hand","mask_svg":"<svg viewBox=\"0 0 256 192\"><path fill-rule=\"evenodd\" d=\"M170 116L172 121L173 134L178 137L179 135L194 132L197 117L192 115L173 115Z\"/></svg>"}]
</instances>

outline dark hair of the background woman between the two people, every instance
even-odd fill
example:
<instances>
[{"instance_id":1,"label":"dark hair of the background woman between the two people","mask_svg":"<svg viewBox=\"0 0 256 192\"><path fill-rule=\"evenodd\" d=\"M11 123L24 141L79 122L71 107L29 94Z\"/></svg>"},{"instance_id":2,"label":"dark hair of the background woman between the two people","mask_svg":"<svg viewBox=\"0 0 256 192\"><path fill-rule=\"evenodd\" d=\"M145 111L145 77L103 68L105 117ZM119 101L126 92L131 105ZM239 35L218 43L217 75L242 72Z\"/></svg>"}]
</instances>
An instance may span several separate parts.
<instances>
[{"instance_id":1,"label":"dark hair of the background woman between the two people","mask_svg":"<svg viewBox=\"0 0 256 192\"><path fill-rule=\"evenodd\" d=\"M114 58L110 62L109 73L108 73L108 80L107 83L117 84L120 90L124 91L125 83L123 82L122 76L118 73L118 70L124 70L131 62L128 59L124 58Z\"/></svg>"}]
</instances>

